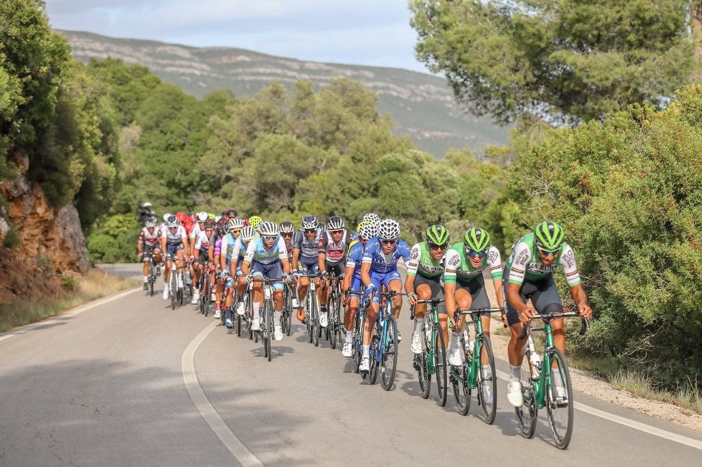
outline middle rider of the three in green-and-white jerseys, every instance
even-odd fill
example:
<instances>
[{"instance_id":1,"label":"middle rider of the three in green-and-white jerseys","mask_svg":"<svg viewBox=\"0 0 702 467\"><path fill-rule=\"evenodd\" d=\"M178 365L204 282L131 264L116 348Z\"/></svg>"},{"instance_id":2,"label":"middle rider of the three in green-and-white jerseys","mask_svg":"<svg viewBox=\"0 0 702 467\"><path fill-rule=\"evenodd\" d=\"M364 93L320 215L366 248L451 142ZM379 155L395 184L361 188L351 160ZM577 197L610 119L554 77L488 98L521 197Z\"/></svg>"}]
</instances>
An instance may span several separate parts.
<instances>
[{"instance_id":1,"label":"middle rider of the three in green-and-white jerseys","mask_svg":"<svg viewBox=\"0 0 702 467\"><path fill-rule=\"evenodd\" d=\"M456 243L446 252L444 259L446 270L444 271L444 293L446 294L446 309L451 311L456 308L462 310L475 310L479 308L490 308L490 299L485 289L483 271L490 268L492 283L495 287L498 306L504 306L502 296L502 259L500 252L491 243L490 234L480 227L473 227L465 232L463 241ZM490 337L490 317L482 316L483 332ZM451 339L451 351L449 352L449 363L451 365L463 364L463 351L461 351L461 334L465 315L461 315L458 323L453 321L453 316L449 313L451 327L453 328L453 339ZM485 353L482 361L482 371L484 375L489 374L489 360ZM487 381L483 381L487 385ZM489 387L482 389L484 397L492 398ZM486 400L486 403L492 403Z\"/></svg>"}]
</instances>

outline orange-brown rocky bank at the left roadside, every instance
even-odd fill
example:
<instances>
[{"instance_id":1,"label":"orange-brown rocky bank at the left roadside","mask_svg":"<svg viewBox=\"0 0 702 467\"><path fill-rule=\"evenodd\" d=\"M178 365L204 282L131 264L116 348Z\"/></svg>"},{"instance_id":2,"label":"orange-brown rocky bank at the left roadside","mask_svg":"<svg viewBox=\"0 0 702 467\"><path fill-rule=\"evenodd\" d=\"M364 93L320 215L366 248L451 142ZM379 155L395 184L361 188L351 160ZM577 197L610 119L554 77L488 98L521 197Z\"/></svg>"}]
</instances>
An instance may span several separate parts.
<instances>
[{"instance_id":1,"label":"orange-brown rocky bank at the left roadside","mask_svg":"<svg viewBox=\"0 0 702 467\"><path fill-rule=\"evenodd\" d=\"M0 183L0 245L11 225L20 239L13 249L0 248L0 302L35 293L51 293L60 284L55 273L88 271L85 238L73 205L51 208L44 191L27 181L27 161L22 172Z\"/></svg>"}]
</instances>

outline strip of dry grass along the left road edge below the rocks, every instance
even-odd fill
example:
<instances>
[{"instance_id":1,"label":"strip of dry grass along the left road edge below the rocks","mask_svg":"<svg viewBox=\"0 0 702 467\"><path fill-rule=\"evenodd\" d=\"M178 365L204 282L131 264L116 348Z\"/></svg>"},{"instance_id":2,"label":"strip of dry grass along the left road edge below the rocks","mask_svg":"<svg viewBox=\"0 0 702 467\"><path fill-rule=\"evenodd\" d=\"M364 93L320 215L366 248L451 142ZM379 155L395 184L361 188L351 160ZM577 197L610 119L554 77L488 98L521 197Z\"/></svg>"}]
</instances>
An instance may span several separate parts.
<instances>
[{"instance_id":1,"label":"strip of dry grass along the left road edge below the rocks","mask_svg":"<svg viewBox=\"0 0 702 467\"><path fill-rule=\"evenodd\" d=\"M0 332L34 323L140 284L138 280L117 278L98 269L91 269L84 276L66 275L62 283L65 290L55 297L0 304Z\"/></svg>"}]
</instances>

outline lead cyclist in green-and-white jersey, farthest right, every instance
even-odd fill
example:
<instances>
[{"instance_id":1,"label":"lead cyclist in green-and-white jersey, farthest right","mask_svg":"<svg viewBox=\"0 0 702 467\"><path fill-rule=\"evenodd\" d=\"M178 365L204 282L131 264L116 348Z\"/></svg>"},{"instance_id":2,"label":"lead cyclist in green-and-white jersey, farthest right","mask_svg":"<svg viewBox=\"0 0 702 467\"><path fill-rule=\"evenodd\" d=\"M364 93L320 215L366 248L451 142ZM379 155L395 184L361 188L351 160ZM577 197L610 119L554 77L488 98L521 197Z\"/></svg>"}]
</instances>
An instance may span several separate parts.
<instances>
[{"instance_id":1,"label":"lead cyclist in green-and-white jersey, farthest right","mask_svg":"<svg viewBox=\"0 0 702 467\"><path fill-rule=\"evenodd\" d=\"M588 304L588 296L581 284L575 262L575 252L571 245L565 242L564 231L555 222L541 222L534 228L534 232L519 238L512 247L512 255L505 266L508 282L503 286L503 291L506 297L507 321L512 331L507 348L510 360L507 398L515 407L522 405L522 382L519 377L526 344L526 339L519 339L522 327L536 313L563 311L558 288L552 276L558 266L563 266L571 295L581 316L592 318L592 309ZM531 299L531 306L527 305L527 299ZM550 324L555 346L565 353L563 318L554 318L550 320ZM552 378L555 379L557 397L562 397L562 394L558 394L558 391L563 391L559 372L552 372Z\"/></svg>"}]
</instances>

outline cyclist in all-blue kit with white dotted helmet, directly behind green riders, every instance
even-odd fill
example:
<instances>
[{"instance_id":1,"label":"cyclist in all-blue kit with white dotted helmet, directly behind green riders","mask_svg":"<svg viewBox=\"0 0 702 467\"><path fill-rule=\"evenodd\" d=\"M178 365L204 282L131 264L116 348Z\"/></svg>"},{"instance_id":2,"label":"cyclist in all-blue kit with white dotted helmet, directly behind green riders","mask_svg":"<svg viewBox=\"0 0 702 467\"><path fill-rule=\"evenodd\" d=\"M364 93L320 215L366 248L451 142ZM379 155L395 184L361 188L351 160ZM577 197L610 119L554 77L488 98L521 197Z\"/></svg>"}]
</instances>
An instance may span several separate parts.
<instances>
[{"instance_id":1,"label":"cyclist in all-blue kit with white dotted helmet, directly behind green riders","mask_svg":"<svg viewBox=\"0 0 702 467\"><path fill-rule=\"evenodd\" d=\"M378 292L381 285L385 285L388 291L402 292L402 276L397 271L397 262L400 258L405 263L409 262L409 252L409 245L405 241L399 240L399 224L393 219L381 221L378 224L378 237L366 243L363 266L361 267L361 280L366 286L371 306L369 306L368 320L364 323L363 330L363 353L359 367L362 372L370 370L371 332L380 308ZM394 297L392 299L392 314L395 318L399 318L401 308L402 297ZM397 339L400 339L399 332L397 332Z\"/></svg>"}]
</instances>

